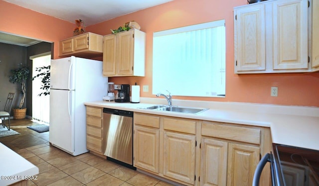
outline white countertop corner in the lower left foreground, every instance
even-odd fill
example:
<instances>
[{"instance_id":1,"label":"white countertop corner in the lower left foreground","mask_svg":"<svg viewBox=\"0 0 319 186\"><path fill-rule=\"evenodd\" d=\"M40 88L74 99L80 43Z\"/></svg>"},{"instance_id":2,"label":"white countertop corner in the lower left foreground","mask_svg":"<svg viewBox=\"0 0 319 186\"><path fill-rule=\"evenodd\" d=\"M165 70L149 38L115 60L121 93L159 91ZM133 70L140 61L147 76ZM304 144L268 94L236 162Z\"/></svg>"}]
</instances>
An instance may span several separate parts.
<instances>
[{"instance_id":1,"label":"white countertop corner in the lower left foreground","mask_svg":"<svg viewBox=\"0 0 319 186\"><path fill-rule=\"evenodd\" d=\"M31 179L31 176L39 174L36 166L2 143L0 143L0 160L0 186Z\"/></svg>"}]
</instances>

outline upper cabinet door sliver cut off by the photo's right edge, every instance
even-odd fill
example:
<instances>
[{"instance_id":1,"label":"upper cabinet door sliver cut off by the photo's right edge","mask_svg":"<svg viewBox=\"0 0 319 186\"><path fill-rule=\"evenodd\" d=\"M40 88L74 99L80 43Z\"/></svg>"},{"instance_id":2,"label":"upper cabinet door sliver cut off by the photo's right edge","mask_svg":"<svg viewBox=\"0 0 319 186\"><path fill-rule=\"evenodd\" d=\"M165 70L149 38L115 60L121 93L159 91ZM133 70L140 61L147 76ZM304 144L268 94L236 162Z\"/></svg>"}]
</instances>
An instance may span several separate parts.
<instances>
[{"instance_id":1,"label":"upper cabinet door sliver cut off by the photo's right edge","mask_svg":"<svg viewBox=\"0 0 319 186\"><path fill-rule=\"evenodd\" d=\"M319 0L312 1L312 64L319 67ZM319 69L317 69L319 70Z\"/></svg>"}]
</instances>

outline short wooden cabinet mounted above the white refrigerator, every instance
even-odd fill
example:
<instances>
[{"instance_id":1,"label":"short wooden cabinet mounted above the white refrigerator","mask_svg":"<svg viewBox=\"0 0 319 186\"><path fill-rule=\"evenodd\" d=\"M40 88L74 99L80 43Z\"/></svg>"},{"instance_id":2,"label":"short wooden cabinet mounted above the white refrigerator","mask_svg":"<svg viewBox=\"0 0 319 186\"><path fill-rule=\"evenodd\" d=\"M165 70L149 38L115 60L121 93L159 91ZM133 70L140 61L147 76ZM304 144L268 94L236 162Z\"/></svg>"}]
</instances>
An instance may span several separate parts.
<instances>
[{"instance_id":1,"label":"short wooden cabinet mounted above the white refrigerator","mask_svg":"<svg viewBox=\"0 0 319 186\"><path fill-rule=\"evenodd\" d=\"M101 56L103 53L103 36L87 32L60 41L59 47L59 56Z\"/></svg>"}]
</instances>

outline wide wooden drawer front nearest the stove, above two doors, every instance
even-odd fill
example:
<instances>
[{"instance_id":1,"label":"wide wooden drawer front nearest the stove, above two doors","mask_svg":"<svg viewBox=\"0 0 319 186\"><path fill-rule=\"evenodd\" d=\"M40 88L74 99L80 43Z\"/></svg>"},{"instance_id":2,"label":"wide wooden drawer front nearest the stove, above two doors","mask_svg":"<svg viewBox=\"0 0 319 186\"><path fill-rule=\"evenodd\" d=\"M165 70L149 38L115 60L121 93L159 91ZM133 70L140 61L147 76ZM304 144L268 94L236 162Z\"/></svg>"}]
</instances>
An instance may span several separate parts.
<instances>
[{"instance_id":1,"label":"wide wooden drawer front nearest the stove, above two doors","mask_svg":"<svg viewBox=\"0 0 319 186\"><path fill-rule=\"evenodd\" d=\"M201 134L204 136L260 144L260 128L229 126L217 122L203 122L201 126Z\"/></svg>"}]
</instances>

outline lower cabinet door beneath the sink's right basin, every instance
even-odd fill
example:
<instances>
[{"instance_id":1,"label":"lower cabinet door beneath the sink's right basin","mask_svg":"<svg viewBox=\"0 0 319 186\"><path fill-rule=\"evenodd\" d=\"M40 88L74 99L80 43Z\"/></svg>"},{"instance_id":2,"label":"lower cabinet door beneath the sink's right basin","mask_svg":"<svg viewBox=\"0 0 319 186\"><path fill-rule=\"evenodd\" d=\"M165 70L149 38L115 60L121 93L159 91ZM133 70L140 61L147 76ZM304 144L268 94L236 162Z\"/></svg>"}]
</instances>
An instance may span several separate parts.
<instances>
[{"instance_id":1,"label":"lower cabinet door beneath the sink's right basin","mask_svg":"<svg viewBox=\"0 0 319 186\"><path fill-rule=\"evenodd\" d=\"M194 184L195 135L164 131L163 175Z\"/></svg>"}]
</instances>

